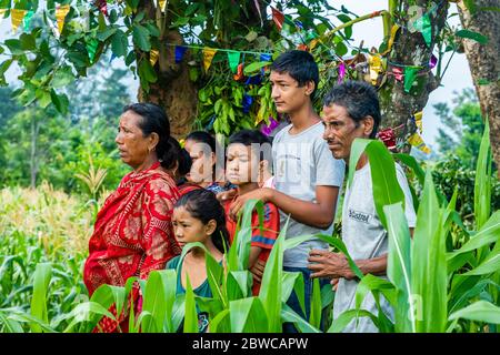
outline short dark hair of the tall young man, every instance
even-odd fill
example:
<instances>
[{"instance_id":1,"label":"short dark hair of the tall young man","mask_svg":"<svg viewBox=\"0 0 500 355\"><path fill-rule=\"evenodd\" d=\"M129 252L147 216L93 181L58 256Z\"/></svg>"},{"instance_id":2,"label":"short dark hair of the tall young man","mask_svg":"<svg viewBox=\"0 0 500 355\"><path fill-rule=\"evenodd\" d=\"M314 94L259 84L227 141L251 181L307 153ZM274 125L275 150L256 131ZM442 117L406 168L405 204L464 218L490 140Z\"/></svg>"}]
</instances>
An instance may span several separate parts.
<instances>
[{"instance_id":1,"label":"short dark hair of the tall young man","mask_svg":"<svg viewBox=\"0 0 500 355\"><path fill-rule=\"evenodd\" d=\"M299 87L303 87L308 81L312 81L314 91L312 91L311 98L314 97L319 83L319 70L311 53L299 50L284 52L272 62L271 71L280 74L288 73L297 80Z\"/></svg>"}]
</instances>

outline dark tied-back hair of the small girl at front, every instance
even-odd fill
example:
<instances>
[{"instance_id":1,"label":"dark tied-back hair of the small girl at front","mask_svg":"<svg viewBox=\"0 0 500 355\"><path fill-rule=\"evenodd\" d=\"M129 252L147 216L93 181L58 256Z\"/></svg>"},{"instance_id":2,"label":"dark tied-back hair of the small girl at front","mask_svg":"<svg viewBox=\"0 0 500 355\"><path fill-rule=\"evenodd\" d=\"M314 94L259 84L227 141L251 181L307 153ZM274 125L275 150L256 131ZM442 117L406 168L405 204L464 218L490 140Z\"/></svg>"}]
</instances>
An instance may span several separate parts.
<instances>
[{"instance_id":1,"label":"dark tied-back hair of the small girl at front","mask_svg":"<svg viewBox=\"0 0 500 355\"><path fill-rule=\"evenodd\" d=\"M224 244L229 245L226 213L213 192L204 189L190 191L182 195L173 207L184 207L193 219L200 220L203 224L214 220L217 229L212 234L212 242L221 253L224 252Z\"/></svg>"}]
</instances>

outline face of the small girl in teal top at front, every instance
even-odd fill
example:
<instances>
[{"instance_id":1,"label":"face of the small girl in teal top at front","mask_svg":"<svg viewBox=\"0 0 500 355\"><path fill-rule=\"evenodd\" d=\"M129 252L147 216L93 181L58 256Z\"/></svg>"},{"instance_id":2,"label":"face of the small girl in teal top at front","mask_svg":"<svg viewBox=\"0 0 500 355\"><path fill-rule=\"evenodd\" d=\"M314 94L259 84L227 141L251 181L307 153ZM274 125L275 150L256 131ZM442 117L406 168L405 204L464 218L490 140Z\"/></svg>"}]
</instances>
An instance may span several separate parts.
<instances>
[{"instance_id":1,"label":"face of the small girl in teal top at front","mask_svg":"<svg viewBox=\"0 0 500 355\"><path fill-rule=\"evenodd\" d=\"M211 226L191 216L183 206L173 209L173 234L181 247L188 243L203 243L210 237Z\"/></svg>"}]
</instances>

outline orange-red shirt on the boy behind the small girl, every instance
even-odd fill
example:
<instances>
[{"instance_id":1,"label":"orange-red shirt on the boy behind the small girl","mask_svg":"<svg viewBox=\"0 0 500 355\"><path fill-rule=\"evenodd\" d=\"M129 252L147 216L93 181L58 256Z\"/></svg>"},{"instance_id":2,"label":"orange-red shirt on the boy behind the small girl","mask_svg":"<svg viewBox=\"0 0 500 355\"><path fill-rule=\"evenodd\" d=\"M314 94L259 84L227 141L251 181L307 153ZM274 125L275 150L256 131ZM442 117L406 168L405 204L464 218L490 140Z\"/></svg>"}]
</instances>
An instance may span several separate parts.
<instances>
[{"instance_id":1,"label":"orange-red shirt on the boy behind the small girl","mask_svg":"<svg viewBox=\"0 0 500 355\"><path fill-rule=\"evenodd\" d=\"M226 201L223 203L226 211L226 226L229 232L229 244L232 244L232 240L236 234L237 222L232 221L229 216L229 210L231 207L232 202L238 196L234 196L232 201ZM262 262L267 262L269 258L269 254L271 253L271 248L274 245L274 241L278 237L280 232L280 214L278 207L273 203L264 203L263 206L263 223L262 223L262 233L259 227L259 214L257 211L252 213L252 241L251 246L259 246L261 250L259 254L259 260ZM253 281L252 294L257 296L260 291L260 283Z\"/></svg>"}]
</instances>

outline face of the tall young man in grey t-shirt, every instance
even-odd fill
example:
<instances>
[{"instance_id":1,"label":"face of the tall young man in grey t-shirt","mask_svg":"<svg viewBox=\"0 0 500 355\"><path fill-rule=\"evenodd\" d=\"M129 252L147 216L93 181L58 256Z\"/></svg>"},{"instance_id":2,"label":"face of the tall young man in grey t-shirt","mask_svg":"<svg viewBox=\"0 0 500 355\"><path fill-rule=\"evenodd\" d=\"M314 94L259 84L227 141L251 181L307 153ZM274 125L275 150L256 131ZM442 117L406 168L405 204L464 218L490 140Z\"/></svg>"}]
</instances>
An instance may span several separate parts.
<instances>
[{"instance_id":1,"label":"face of the tall young man in grey t-shirt","mask_svg":"<svg viewBox=\"0 0 500 355\"><path fill-rule=\"evenodd\" d=\"M271 71L269 80L272 87L271 98L279 113L296 112L311 100L310 95L314 90L314 83L312 82L299 87L299 82L289 73L276 71Z\"/></svg>"}]
</instances>

